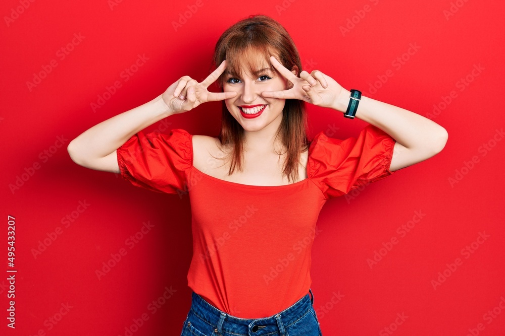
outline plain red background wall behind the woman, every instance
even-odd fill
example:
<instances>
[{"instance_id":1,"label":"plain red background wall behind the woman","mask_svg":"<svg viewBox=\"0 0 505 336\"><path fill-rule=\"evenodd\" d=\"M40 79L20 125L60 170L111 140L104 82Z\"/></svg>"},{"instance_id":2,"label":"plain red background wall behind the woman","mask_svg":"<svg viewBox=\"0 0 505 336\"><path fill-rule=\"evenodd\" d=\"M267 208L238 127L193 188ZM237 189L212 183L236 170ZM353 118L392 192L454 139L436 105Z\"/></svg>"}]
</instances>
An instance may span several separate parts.
<instances>
[{"instance_id":1,"label":"plain red background wall behind the woman","mask_svg":"<svg viewBox=\"0 0 505 336\"><path fill-rule=\"evenodd\" d=\"M22 3L29 6L23 9ZM133 328L134 335L180 334L191 301L186 279L192 253L189 198L150 192L118 175L78 166L66 146L89 127L158 96L181 76L201 81L210 72L221 33L261 13L288 30L305 70L321 70L346 89L361 89L424 116L440 104L431 117L449 133L435 157L352 197L331 199L323 208L311 268L323 334L391 334L385 327L395 335L505 334L505 310L499 307L502 298L505 307L505 141L497 132L505 124L503 2L197 4L8 0L0 5L0 256L6 260L0 270L0 332L125 335L144 314L148 318ZM190 18L174 28L173 22L190 9ZM348 31L342 31L346 25ZM63 58L58 50L73 39L75 45L68 48L73 50ZM419 48L409 55L411 43ZM126 81L121 74L138 55L148 59ZM402 63L395 61L402 56ZM472 75L479 64L480 72ZM51 72L29 87L27 82L44 69ZM468 86L462 85L467 76ZM377 82L381 78L385 83ZM94 112L91 104L115 81L121 87ZM147 130L184 128L217 136L220 104L171 116ZM315 106L309 106L309 118L311 136L326 130L335 138L356 137L366 125ZM333 128L338 128L335 133ZM53 153L49 157L44 151ZM22 175L26 181L11 190ZM451 184L450 178L457 182ZM84 211L79 201L88 204ZM397 228L417 221L416 211L425 215L401 235ZM16 221L15 330L6 326L6 271L12 269L7 266L8 215ZM72 221L62 222L67 215ZM130 249L126 240L143 222L154 226ZM482 244L476 242L479 233L489 235ZM55 235L54 241L46 239ZM392 237L397 244L383 249L387 254L371 268L367 259ZM34 255L44 239L51 244ZM476 249L462 252L472 242ZM98 279L95 271L121 248L127 254ZM456 270L447 270L457 258ZM444 270L448 277L434 288L432 281ZM165 288L172 289L171 297L156 311L150 309ZM408 317L402 321L397 314Z\"/></svg>"}]
</instances>

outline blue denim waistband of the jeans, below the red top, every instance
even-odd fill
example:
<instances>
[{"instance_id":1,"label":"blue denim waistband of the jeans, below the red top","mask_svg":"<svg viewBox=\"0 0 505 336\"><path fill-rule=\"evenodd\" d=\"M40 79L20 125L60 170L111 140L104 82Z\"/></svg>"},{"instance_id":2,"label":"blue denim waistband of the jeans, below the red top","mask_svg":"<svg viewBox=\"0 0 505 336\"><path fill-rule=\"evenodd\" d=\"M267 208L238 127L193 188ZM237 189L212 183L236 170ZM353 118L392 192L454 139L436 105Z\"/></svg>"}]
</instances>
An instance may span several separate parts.
<instances>
[{"instance_id":1,"label":"blue denim waistband of the jeans, below the red top","mask_svg":"<svg viewBox=\"0 0 505 336\"><path fill-rule=\"evenodd\" d=\"M273 332L285 332L285 327L293 324L305 316L314 304L314 294L302 297L292 306L283 311L263 318L239 318L229 315L205 301L201 296L192 292L191 310L205 322L216 325L215 332L233 333L236 335L265 335Z\"/></svg>"}]
</instances>

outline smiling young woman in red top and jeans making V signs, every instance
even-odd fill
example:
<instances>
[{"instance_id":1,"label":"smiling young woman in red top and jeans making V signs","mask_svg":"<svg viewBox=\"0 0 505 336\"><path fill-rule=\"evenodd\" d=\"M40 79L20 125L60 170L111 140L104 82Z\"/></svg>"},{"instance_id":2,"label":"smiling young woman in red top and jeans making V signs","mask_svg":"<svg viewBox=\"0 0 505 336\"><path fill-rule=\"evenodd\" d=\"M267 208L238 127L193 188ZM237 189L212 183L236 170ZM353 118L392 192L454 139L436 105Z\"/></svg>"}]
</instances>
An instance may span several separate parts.
<instances>
[{"instance_id":1,"label":"smiling young woman in red top and jeans making V signs","mask_svg":"<svg viewBox=\"0 0 505 336\"><path fill-rule=\"evenodd\" d=\"M182 335L320 335L309 270L322 206L434 156L447 132L347 91L319 70L301 71L292 39L266 16L226 30L213 60L217 69L203 82L181 77L155 99L86 130L68 152L77 164L121 173L136 186L189 193L193 292ZM215 81L222 92L207 90ZM219 100L218 138L180 128L142 132ZM370 125L358 138L321 131L310 141L306 102Z\"/></svg>"}]
</instances>

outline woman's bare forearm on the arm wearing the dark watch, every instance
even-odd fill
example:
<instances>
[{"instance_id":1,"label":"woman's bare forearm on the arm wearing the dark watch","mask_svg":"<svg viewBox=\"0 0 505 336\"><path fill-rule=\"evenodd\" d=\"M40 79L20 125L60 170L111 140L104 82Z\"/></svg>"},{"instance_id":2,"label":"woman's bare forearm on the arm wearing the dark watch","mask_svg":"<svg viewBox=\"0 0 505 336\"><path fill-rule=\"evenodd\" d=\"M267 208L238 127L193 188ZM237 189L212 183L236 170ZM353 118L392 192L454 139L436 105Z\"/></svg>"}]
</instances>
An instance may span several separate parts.
<instances>
[{"instance_id":1,"label":"woman's bare forearm on the arm wearing the dark watch","mask_svg":"<svg viewBox=\"0 0 505 336\"><path fill-rule=\"evenodd\" d=\"M349 91L342 89L333 108L345 113L349 95ZM447 139L447 131L434 121L369 97L362 96L355 116L382 129L411 150L439 152Z\"/></svg>"}]
</instances>

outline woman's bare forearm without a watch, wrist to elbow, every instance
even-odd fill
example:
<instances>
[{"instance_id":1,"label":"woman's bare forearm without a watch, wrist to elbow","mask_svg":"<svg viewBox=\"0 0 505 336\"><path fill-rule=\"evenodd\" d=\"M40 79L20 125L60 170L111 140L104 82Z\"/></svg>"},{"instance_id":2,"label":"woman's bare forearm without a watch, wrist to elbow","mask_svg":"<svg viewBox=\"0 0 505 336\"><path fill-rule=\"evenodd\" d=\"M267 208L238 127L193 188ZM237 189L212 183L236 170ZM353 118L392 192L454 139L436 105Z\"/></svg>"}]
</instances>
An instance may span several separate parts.
<instances>
[{"instance_id":1,"label":"woman's bare forearm without a watch, wrist to elbow","mask_svg":"<svg viewBox=\"0 0 505 336\"><path fill-rule=\"evenodd\" d=\"M87 129L70 142L68 152L74 162L103 158L121 147L138 131L172 114L160 95Z\"/></svg>"}]
</instances>

